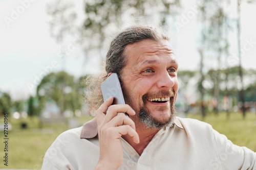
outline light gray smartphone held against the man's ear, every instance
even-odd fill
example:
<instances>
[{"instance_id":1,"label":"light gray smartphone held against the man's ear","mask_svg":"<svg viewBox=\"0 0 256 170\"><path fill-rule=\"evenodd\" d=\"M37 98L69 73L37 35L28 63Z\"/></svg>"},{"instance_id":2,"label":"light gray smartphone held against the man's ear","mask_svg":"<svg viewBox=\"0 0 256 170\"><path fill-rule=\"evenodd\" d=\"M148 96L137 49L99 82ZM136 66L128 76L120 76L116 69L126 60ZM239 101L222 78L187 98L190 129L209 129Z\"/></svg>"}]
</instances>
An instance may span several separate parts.
<instances>
[{"instance_id":1,"label":"light gray smartphone held against the man's ear","mask_svg":"<svg viewBox=\"0 0 256 170\"><path fill-rule=\"evenodd\" d=\"M119 82L119 79L116 73L112 73L100 85L100 88L101 88L104 101L109 99L111 96L113 96L114 101L112 105L125 104L121 84ZM127 113L124 113L124 114L129 117L129 114Z\"/></svg>"}]
</instances>

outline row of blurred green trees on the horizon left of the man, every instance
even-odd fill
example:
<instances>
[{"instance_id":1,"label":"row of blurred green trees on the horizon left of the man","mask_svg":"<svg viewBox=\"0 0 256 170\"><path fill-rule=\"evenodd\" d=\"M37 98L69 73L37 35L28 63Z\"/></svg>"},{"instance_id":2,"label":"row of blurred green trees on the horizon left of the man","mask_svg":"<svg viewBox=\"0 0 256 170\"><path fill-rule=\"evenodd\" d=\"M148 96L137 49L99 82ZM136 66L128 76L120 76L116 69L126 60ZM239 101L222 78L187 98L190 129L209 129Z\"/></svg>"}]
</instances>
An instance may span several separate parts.
<instances>
[{"instance_id":1,"label":"row of blurred green trees on the horizon left of the man","mask_svg":"<svg viewBox=\"0 0 256 170\"><path fill-rule=\"evenodd\" d=\"M27 101L14 101L8 93L0 93L0 115L12 113L12 109L22 112L27 109L29 116L39 115L46 107L47 101L54 101L63 111L81 110L84 104L84 88L87 76L80 77L77 82L66 72L52 72L46 75L37 86L37 95L30 96Z\"/></svg>"}]
</instances>

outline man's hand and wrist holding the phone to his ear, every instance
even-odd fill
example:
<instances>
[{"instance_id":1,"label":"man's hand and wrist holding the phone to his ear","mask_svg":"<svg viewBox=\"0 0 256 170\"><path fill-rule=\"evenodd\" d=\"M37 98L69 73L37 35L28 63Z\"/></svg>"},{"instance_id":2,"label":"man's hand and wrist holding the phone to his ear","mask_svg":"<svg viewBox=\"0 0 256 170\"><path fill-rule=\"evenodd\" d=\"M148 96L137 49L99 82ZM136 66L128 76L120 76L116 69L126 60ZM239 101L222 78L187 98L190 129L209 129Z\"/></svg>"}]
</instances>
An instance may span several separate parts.
<instances>
[{"instance_id":1,"label":"man's hand and wrist holding the phone to his ear","mask_svg":"<svg viewBox=\"0 0 256 170\"><path fill-rule=\"evenodd\" d=\"M120 137L130 135L135 143L139 143L139 135L133 120L125 114L135 115L129 105L112 105L113 97L106 100L96 111L98 124L100 156L95 169L117 169L123 160L123 149ZM109 110L108 110L108 107ZM106 113L108 110L108 113ZM121 113L118 114L117 113Z\"/></svg>"}]
</instances>

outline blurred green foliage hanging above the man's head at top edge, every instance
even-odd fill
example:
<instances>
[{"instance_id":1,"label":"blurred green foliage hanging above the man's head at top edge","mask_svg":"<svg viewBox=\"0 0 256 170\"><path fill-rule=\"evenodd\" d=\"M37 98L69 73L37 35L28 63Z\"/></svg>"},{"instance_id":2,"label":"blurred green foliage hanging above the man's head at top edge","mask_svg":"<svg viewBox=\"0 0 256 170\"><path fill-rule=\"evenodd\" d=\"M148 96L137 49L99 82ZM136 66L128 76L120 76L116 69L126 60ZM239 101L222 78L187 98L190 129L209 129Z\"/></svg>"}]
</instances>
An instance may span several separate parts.
<instances>
[{"instance_id":1,"label":"blurred green foliage hanging above the man's head at top edge","mask_svg":"<svg viewBox=\"0 0 256 170\"><path fill-rule=\"evenodd\" d=\"M84 21L85 30L94 30L93 34L104 35L104 29L116 21L121 20L121 16L129 9L133 9L134 16L146 15L146 7L151 6L159 13L172 13L170 9L181 7L181 2L176 0L169 1L125 1L125 0L103 0L103 1L84 1L85 13L87 14ZM164 7L164 8L163 8ZM153 11L153 9L152 9ZM97 16L97 17L96 17ZM163 16L165 18L165 16ZM164 22L164 19L162 20Z\"/></svg>"}]
</instances>

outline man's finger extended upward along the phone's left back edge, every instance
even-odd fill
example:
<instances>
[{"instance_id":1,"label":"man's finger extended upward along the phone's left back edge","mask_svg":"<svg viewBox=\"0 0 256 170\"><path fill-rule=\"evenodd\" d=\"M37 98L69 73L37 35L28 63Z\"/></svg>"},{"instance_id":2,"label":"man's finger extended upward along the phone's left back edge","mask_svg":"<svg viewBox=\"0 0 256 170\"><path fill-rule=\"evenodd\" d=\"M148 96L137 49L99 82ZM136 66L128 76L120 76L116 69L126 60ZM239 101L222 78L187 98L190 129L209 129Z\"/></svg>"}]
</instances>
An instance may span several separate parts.
<instances>
[{"instance_id":1,"label":"man's finger extended upward along the phone's left back edge","mask_svg":"<svg viewBox=\"0 0 256 170\"><path fill-rule=\"evenodd\" d=\"M113 99L114 98L111 96L109 99L105 100L105 102L103 102L102 105L100 105L98 110L96 110L95 114L96 114L96 119L97 119L98 125L102 124L102 122L105 118L106 110L108 110L109 106L113 103Z\"/></svg>"}]
</instances>

